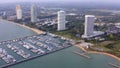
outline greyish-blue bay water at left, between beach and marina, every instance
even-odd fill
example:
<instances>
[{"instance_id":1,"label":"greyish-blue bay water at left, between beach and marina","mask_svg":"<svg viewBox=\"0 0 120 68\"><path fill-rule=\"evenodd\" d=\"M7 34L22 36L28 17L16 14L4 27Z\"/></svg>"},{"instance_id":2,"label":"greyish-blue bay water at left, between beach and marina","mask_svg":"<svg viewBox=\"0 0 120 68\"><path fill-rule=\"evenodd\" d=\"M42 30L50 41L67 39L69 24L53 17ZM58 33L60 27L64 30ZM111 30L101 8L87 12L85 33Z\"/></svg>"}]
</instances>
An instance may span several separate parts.
<instances>
[{"instance_id":1,"label":"greyish-blue bay water at left, between beach and marina","mask_svg":"<svg viewBox=\"0 0 120 68\"><path fill-rule=\"evenodd\" d=\"M0 41L20 38L30 35L36 35L36 33L26 28L21 28L21 26L17 26L16 24L8 23L6 21L2 22L0 20Z\"/></svg>"}]
</instances>

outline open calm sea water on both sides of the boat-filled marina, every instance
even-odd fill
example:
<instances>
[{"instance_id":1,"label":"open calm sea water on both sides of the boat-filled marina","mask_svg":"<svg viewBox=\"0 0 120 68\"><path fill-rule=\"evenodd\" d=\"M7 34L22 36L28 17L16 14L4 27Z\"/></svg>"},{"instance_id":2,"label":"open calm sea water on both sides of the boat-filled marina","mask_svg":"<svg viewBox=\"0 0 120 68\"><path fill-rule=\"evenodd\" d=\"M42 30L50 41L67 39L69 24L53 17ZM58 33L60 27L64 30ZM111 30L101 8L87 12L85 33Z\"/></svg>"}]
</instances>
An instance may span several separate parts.
<instances>
[{"instance_id":1,"label":"open calm sea water on both sides of the boat-filled marina","mask_svg":"<svg viewBox=\"0 0 120 68\"><path fill-rule=\"evenodd\" d=\"M0 21L0 41L9 40L29 35L35 35L31 30L15 24ZM109 62L120 64L119 61L105 55L90 54L91 60L73 54L79 48L70 47L62 51L30 60L9 68L112 68Z\"/></svg>"}]
</instances>

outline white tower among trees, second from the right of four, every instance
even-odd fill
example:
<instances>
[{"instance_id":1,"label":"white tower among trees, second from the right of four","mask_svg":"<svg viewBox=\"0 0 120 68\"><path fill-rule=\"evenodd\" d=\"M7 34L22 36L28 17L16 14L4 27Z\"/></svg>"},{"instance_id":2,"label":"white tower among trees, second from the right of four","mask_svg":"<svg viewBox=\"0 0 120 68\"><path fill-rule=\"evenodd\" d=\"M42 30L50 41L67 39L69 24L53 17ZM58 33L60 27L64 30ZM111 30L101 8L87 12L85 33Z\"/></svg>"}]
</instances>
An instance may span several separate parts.
<instances>
[{"instance_id":1,"label":"white tower among trees, second from the right of four","mask_svg":"<svg viewBox=\"0 0 120 68\"><path fill-rule=\"evenodd\" d=\"M58 28L57 30L60 31L60 30L65 30L66 27L65 27L65 24L66 24L66 13L65 11L58 11Z\"/></svg>"}]
</instances>

